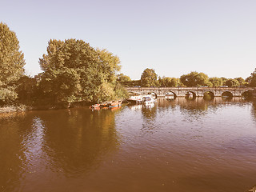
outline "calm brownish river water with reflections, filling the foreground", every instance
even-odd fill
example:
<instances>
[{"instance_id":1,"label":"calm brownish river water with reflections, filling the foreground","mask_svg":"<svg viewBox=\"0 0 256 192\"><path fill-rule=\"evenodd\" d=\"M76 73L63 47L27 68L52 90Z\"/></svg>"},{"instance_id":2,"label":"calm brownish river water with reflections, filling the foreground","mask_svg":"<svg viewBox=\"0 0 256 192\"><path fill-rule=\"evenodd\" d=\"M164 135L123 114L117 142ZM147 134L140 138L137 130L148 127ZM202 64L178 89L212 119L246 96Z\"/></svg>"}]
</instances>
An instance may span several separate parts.
<instances>
[{"instance_id":1,"label":"calm brownish river water with reflections, filling the foreground","mask_svg":"<svg viewBox=\"0 0 256 192\"><path fill-rule=\"evenodd\" d=\"M0 191L235 192L256 184L256 102L215 99L0 118Z\"/></svg>"}]
</instances>

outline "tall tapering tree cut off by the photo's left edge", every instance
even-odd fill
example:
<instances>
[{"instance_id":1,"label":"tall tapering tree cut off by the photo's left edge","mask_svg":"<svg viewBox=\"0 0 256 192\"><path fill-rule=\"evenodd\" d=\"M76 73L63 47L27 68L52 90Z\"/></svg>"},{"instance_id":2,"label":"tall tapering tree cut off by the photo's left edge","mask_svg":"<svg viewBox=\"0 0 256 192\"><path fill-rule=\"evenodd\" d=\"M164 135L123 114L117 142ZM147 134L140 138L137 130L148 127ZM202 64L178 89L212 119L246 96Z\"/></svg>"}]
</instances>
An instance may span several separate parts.
<instances>
[{"instance_id":1,"label":"tall tapering tree cut off by the photo's left edge","mask_svg":"<svg viewBox=\"0 0 256 192\"><path fill-rule=\"evenodd\" d=\"M0 22L0 103L13 102L17 97L14 83L24 74L24 54L19 50L14 31Z\"/></svg>"}]
</instances>

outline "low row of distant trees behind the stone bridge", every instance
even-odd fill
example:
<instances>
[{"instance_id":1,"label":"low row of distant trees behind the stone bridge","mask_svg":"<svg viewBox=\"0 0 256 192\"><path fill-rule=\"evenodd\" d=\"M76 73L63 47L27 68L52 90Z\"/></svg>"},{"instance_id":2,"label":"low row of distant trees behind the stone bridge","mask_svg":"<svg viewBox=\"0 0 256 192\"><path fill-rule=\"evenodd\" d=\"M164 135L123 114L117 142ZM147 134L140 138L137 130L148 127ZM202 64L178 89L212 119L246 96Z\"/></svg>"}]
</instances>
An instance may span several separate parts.
<instances>
[{"instance_id":1,"label":"low row of distant trees behind the stone bridge","mask_svg":"<svg viewBox=\"0 0 256 192\"><path fill-rule=\"evenodd\" d=\"M209 78L207 74L198 73L197 71L192 71L190 74L183 74L180 78L170 78L170 77L158 77L158 74L154 69L146 68L142 72L140 80L131 80L129 76L124 74L118 75L118 81L124 86L144 86L144 87L177 87L177 86L207 86L207 87L246 87L256 86L256 69L250 76L246 79L239 78Z\"/></svg>"}]
</instances>

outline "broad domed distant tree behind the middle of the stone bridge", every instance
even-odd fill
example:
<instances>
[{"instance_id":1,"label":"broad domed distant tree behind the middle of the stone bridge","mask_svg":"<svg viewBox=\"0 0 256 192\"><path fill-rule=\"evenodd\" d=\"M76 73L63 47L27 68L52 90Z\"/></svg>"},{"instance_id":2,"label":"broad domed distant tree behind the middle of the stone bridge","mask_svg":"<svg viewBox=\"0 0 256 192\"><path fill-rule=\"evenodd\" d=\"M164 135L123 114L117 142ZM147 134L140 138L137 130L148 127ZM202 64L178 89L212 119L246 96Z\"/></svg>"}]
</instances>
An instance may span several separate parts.
<instances>
[{"instance_id":1,"label":"broad domed distant tree behind the middle of the stone bridge","mask_svg":"<svg viewBox=\"0 0 256 192\"><path fill-rule=\"evenodd\" d=\"M192 71L190 74L183 74L180 78L185 86L211 86L207 74Z\"/></svg>"}]
</instances>

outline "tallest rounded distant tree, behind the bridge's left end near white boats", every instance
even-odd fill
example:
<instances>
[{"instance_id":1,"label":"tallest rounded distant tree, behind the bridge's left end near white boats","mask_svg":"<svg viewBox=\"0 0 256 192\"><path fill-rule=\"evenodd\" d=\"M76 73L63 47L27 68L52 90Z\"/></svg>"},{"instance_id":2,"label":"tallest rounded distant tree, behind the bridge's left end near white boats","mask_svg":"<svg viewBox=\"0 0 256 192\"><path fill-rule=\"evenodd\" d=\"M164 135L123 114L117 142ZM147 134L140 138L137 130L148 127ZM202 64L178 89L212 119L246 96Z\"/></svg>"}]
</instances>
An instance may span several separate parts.
<instances>
[{"instance_id":1,"label":"tallest rounded distant tree, behind the bridge's left end near white boats","mask_svg":"<svg viewBox=\"0 0 256 192\"><path fill-rule=\"evenodd\" d=\"M146 87L158 86L158 75L153 69L146 68L146 70L143 71L141 85Z\"/></svg>"}]
</instances>

